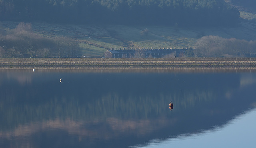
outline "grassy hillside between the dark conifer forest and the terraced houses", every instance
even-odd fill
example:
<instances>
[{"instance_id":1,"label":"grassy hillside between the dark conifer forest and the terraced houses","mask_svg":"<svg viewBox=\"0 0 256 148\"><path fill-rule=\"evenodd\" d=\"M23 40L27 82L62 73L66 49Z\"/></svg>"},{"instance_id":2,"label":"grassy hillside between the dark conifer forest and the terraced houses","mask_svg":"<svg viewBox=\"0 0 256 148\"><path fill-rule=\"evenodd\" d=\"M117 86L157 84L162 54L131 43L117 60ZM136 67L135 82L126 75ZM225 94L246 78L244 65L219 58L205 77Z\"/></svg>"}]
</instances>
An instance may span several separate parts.
<instances>
[{"instance_id":1,"label":"grassy hillside between the dark conifer forest and the terraced houses","mask_svg":"<svg viewBox=\"0 0 256 148\"><path fill-rule=\"evenodd\" d=\"M202 36L220 36L256 40L256 14L240 8L241 22L233 28L180 28L159 26L86 26L74 24L49 24L31 22L33 31L45 37L69 37L79 42L82 56L102 56L110 48L170 48L193 47ZM10 31L20 22L1 22L1 30ZM147 34L142 32L147 29Z\"/></svg>"}]
</instances>

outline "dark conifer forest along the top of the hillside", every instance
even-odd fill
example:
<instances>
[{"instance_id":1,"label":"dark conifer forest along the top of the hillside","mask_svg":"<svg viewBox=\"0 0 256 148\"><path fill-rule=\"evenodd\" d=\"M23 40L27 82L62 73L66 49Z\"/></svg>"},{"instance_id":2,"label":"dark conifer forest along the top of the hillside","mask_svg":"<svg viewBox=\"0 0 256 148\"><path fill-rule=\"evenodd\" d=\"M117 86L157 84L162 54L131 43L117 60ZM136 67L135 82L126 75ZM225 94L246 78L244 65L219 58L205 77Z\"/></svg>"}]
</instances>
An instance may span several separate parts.
<instances>
[{"instance_id":1,"label":"dark conifer forest along the top of the hillside","mask_svg":"<svg viewBox=\"0 0 256 148\"><path fill-rule=\"evenodd\" d=\"M224 0L0 0L0 19L20 22L231 26L239 15Z\"/></svg>"}]
</instances>

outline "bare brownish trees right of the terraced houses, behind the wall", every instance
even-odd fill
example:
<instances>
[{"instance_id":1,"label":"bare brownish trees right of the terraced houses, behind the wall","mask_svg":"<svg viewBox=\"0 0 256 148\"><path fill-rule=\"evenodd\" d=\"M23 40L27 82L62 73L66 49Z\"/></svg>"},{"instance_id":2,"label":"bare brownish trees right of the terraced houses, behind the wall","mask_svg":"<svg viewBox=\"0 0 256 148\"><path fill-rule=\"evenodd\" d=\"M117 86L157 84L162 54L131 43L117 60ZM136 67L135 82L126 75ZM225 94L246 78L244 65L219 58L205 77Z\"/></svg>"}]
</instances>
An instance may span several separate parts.
<instances>
[{"instance_id":1,"label":"bare brownish trees right of the terraced houses, behind the wall","mask_svg":"<svg viewBox=\"0 0 256 148\"><path fill-rule=\"evenodd\" d=\"M204 36L197 40L195 57L256 57L256 41Z\"/></svg>"}]
</instances>

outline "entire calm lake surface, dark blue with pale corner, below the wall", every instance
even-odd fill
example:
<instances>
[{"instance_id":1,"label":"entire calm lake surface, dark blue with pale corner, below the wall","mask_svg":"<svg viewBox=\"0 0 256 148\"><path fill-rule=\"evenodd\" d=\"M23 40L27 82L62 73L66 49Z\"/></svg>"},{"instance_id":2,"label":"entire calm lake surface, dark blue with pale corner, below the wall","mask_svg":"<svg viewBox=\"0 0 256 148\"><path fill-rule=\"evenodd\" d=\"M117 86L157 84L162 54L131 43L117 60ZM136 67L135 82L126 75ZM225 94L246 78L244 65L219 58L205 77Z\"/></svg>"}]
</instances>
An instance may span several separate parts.
<instances>
[{"instance_id":1,"label":"entire calm lake surface, dark blue with pale corner, below the wall","mask_svg":"<svg viewBox=\"0 0 256 148\"><path fill-rule=\"evenodd\" d=\"M0 148L250 148L255 125L255 72L0 70Z\"/></svg>"}]
</instances>

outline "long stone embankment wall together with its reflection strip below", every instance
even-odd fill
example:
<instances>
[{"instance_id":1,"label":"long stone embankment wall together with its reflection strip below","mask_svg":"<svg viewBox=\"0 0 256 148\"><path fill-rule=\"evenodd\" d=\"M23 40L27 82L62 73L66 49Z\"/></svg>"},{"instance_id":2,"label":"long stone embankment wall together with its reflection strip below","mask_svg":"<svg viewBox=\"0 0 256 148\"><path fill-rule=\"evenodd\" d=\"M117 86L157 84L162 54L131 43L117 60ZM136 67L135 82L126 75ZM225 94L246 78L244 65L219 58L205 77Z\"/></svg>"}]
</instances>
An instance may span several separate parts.
<instances>
[{"instance_id":1,"label":"long stone embankment wall together with its reflection strip below","mask_svg":"<svg viewBox=\"0 0 256 148\"><path fill-rule=\"evenodd\" d=\"M90 73L255 73L256 58L0 59L0 71L31 69Z\"/></svg>"}]
</instances>

